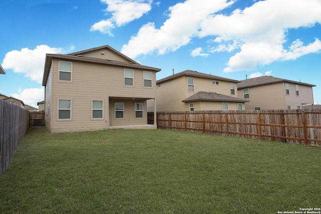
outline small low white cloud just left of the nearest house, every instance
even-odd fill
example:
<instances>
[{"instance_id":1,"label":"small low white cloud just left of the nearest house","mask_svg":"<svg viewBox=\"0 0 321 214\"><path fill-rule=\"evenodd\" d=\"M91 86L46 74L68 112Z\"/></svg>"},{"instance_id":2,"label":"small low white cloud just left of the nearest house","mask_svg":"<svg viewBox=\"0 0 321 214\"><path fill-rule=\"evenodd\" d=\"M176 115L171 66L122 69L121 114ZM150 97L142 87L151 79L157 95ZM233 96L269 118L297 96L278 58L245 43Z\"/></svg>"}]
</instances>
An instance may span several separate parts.
<instances>
[{"instance_id":1,"label":"small low white cloud just left of the nearest house","mask_svg":"<svg viewBox=\"0 0 321 214\"><path fill-rule=\"evenodd\" d=\"M45 90L41 88L26 88L24 90L19 89L18 93L14 93L11 96L22 100L25 104L38 108L37 102L44 100Z\"/></svg>"}]
</instances>

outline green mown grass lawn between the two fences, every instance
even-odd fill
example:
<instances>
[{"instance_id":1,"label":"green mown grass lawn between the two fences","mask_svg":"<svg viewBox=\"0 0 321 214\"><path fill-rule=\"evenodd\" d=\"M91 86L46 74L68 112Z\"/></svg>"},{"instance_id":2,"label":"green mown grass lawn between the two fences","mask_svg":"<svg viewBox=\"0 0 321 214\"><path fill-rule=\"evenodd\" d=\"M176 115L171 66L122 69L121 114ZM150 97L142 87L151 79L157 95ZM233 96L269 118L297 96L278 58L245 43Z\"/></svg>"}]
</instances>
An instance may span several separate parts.
<instances>
[{"instance_id":1,"label":"green mown grass lawn between the two fences","mask_svg":"<svg viewBox=\"0 0 321 214\"><path fill-rule=\"evenodd\" d=\"M321 148L171 130L30 130L0 213L277 213L321 206Z\"/></svg>"}]
</instances>

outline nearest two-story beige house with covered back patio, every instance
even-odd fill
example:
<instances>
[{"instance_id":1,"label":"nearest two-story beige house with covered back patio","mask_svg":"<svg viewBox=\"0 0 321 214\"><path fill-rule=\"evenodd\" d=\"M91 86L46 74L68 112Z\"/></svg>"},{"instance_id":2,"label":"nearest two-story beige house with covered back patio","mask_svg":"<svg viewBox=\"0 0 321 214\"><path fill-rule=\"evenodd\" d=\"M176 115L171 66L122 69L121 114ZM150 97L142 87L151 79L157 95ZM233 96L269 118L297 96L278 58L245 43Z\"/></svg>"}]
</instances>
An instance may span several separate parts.
<instances>
[{"instance_id":1,"label":"nearest two-story beige house with covered back patio","mask_svg":"<svg viewBox=\"0 0 321 214\"><path fill-rule=\"evenodd\" d=\"M108 45L71 54L46 54L46 126L51 133L147 125L146 100L156 109L156 72Z\"/></svg>"}]
</instances>

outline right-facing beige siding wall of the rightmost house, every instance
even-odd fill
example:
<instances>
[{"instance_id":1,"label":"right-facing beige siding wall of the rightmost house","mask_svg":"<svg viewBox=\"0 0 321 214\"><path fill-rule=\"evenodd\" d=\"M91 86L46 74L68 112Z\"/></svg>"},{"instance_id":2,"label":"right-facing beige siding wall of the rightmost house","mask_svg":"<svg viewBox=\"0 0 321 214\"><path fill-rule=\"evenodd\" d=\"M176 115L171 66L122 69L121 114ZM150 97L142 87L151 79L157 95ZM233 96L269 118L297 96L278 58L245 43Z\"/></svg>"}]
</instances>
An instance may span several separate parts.
<instances>
[{"instance_id":1,"label":"right-facing beige siding wall of the rightmost house","mask_svg":"<svg viewBox=\"0 0 321 214\"><path fill-rule=\"evenodd\" d=\"M294 83L289 83L290 94L285 96L285 106L284 109L287 109L287 106L290 105L291 109L297 109L297 106L301 104L312 104L313 103L313 92L312 87L307 85L299 86L299 96L296 96ZM284 83L284 91L285 91L285 83ZM284 92L285 93L285 92Z\"/></svg>"}]
</instances>

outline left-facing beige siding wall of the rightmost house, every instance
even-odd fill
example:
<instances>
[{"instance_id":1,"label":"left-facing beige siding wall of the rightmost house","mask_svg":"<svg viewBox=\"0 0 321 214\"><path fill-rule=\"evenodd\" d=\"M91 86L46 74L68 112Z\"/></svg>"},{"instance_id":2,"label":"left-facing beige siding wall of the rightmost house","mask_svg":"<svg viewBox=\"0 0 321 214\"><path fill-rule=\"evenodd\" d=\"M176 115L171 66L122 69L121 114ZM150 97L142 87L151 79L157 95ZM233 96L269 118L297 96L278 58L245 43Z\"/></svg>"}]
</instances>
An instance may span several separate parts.
<instances>
[{"instance_id":1,"label":"left-facing beige siding wall of the rightmost house","mask_svg":"<svg viewBox=\"0 0 321 214\"><path fill-rule=\"evenodd\" d=\"M244 99L243 89L238 91L239 98ZM260 85L249 88L249 102L245 102L246 110L254 110L260 107L261 110L284 109L285 85L283 82Z\"/></svg>"}]
</instances>

